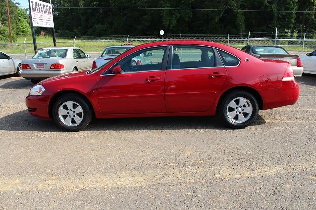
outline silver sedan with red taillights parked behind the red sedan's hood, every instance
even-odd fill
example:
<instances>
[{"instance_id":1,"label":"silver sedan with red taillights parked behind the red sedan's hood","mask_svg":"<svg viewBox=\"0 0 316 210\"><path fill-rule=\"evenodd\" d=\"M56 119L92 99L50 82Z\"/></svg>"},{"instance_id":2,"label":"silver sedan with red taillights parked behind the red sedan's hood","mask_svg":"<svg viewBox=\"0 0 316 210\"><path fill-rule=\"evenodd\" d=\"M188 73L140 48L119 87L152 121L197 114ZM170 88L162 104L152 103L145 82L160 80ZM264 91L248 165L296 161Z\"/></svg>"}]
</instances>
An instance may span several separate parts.
<instances>
[{"instance_id":1,"label":"silver sedan with red taillights parked behind the red sedan's hood","mask_svg":"<svg viewBox=\"0 0 316 210\"><path fill-rule=\"evenodd\" d=\"M43 48L32 59L22 61L21 75L36 84L52 76L91 69L90 58L77 47Z\"/></svg>"}]
</instances>

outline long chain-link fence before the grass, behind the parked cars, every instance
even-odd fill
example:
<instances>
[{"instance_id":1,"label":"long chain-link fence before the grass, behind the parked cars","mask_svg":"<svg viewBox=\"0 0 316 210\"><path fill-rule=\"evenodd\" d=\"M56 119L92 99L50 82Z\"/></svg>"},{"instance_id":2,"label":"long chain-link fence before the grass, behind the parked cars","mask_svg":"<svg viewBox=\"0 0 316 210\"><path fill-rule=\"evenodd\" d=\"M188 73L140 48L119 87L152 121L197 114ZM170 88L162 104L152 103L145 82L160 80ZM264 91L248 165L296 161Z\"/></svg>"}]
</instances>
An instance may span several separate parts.
<instances>
[{"instance_id":1,"label":"long chain-link fence before the grass, behind the parked cars","mask_svg":"<svg viewBox=\"0 0 316 210\"><path fill-rule=\"evenodd\" d=\"M300 37L300 38L298 38ZM38 41L37 48L51 47L53 41ZM304 55L316 49L314 35L308 33L245 33L245 34L178 34L178 35L126 35L126 36L93 36L57 38L58 47L76 46L88 54L100 54L105 47L123 44L139 45L143 43L166 40L206 40L227 44L241 49L245 45L278 45L290 54ZM33 43L0 43L0 50L14 58L26 59L34 55Z\"/></svg>"}]
</instances>

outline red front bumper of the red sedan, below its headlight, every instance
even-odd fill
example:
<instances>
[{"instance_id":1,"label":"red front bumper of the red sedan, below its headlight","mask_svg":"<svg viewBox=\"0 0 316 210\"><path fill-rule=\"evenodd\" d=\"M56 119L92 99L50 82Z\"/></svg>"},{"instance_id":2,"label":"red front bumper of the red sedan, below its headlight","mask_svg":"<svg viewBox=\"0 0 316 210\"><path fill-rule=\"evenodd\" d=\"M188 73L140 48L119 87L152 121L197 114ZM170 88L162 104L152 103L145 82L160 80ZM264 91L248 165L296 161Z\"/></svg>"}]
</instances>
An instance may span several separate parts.
<instances>
[{"instance_id":1,"label":"red front bumper of the red sedan, below its headlight","mask_svg":"<svg viewBox=\"0 0 316 210\"><path fill-rule=\"evenodd\" d=\"M48 113L48 96L27 96L25 105L28 108L29 114L42 119L50 119Z\"/></svg>"}]
</instances>

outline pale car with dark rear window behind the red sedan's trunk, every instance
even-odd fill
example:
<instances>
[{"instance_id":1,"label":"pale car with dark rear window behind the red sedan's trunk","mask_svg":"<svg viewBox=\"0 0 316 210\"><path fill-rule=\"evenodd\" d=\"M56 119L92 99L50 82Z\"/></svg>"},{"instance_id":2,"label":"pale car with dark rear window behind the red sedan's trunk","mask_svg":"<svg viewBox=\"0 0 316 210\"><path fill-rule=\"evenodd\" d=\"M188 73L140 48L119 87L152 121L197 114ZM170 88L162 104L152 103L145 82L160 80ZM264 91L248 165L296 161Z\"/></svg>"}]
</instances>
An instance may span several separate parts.
<instances>
[{"instance_id":1,"label":"pale car with dark rear window behind the red sedan's trunk","mask_svg":"<svg viewBox=\"0 0 316 210\"><path fill-rule=\"evenodd\" d=\"M294 76L301 77L303 74L303 64L299 56L290 55L282 47L267 45L247 45L241 50L262 59L287 61L292 65Z\"/></svg>"}]
</instances>

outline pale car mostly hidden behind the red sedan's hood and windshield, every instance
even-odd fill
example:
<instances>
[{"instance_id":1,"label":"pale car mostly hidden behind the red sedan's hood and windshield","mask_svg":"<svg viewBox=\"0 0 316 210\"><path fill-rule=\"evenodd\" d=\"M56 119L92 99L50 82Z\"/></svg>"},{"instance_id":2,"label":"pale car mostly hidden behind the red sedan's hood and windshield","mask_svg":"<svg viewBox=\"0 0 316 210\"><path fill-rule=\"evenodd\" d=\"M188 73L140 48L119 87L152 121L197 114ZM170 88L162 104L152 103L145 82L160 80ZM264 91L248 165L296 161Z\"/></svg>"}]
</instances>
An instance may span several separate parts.
<instances>
[{"instance_id":1,"label":"pale car mostly hidden behind the red sedan's hood and windshield","mask_svg":"<svg viewBox=\"0 0 316 210\"><path fill-rule=\"evenodd\" d=\"M92 69L98 68L105 63L108 63L113 58L117 57L118 55L126 52L129 49L132 49L133 45L127 46L113 46L113 47L106 47L103 52L101 53L99 58L94 59L92 63Z\"/></svg>"}]
</instances>

